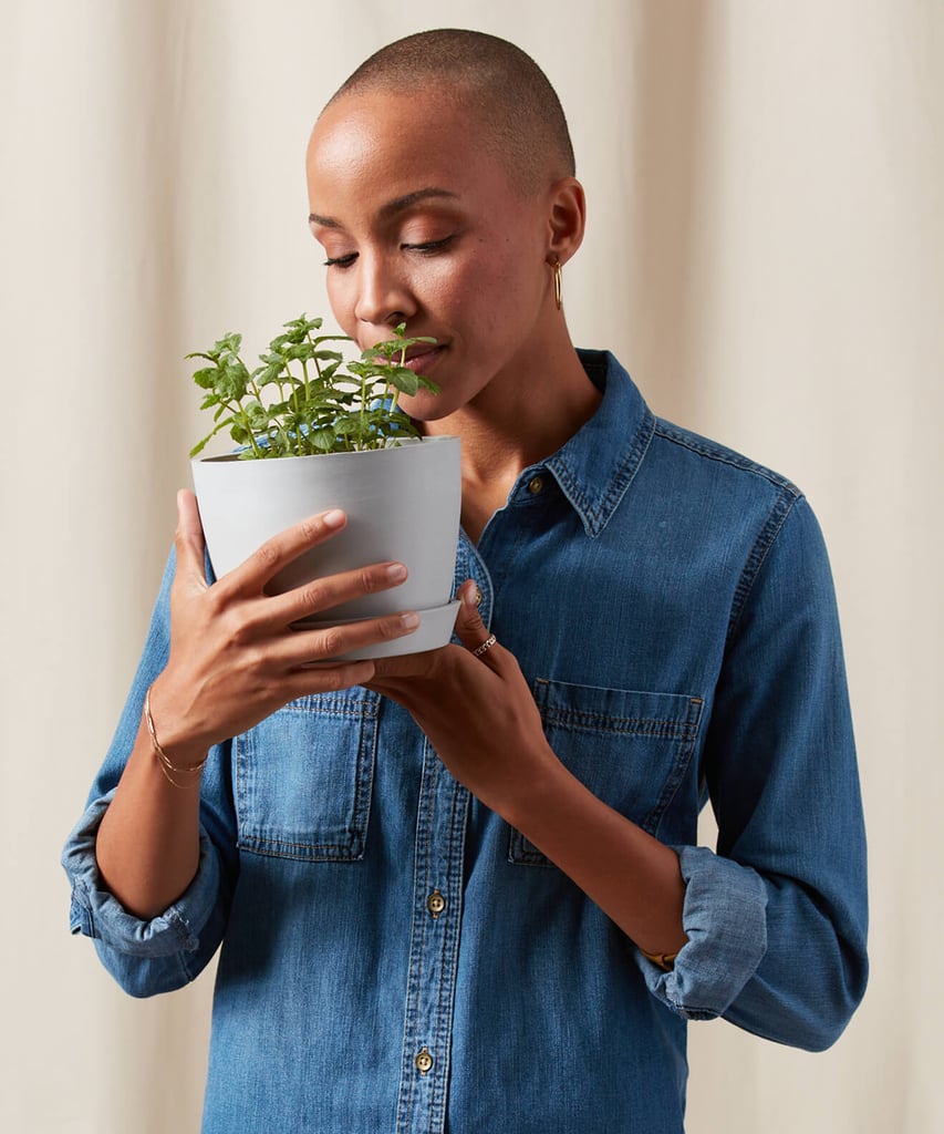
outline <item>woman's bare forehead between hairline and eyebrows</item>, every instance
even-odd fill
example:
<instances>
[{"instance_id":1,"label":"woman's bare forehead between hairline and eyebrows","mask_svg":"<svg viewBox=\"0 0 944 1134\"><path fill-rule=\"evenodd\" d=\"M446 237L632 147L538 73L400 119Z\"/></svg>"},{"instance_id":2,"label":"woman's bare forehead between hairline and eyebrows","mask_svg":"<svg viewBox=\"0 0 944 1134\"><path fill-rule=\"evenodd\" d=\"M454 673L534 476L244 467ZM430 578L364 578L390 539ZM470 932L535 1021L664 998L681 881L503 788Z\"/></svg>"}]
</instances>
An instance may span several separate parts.
<instances>
[{"instance_id":1,"label":"woman's bare forehead between hairline and eyebrows","mask_svg":"<svg viewBox=\"0 0 944 1134\"><path fill-rule=\"evenodd\" d=\"M418 184L510 185L480 116L432 88L341 95L315 124L307 172L313 202L341 185L383 186L389 196Z\"/></svg>"}]
</instances>

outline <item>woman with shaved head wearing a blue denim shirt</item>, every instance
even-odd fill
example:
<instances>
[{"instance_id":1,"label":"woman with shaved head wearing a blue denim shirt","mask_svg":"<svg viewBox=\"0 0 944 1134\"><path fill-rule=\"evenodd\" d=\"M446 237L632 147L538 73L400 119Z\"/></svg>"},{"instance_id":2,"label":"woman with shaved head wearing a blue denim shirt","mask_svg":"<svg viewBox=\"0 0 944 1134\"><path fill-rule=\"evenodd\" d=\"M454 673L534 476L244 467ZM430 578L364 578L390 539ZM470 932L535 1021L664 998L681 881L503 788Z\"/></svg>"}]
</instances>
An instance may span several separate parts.
<instances>
[{"instance_id":1,"label":"woman with shaved head wearing a blue denim shirt","mask_svg":"<svg viewBox=\"0 0 944 1134\"><path fill-rule=\"evenodd\" d=\"M66 852L74 928L136 995L222 942L207 1132L675 1134L687 1019L823 1048L865 987L816 522L575 350L561 276L584 193L517 48L445 31L383 49L322 112L307 171L343 330L436 340L413 365L441 393L403 404L462 439L458 640L311 666L410 633L409 611L330 643L289 628L401 565L267 596L343 525L329 514L209 586L181 493ZM695 845L706 795L716 854Z\"/></svg>"}]
</instances>

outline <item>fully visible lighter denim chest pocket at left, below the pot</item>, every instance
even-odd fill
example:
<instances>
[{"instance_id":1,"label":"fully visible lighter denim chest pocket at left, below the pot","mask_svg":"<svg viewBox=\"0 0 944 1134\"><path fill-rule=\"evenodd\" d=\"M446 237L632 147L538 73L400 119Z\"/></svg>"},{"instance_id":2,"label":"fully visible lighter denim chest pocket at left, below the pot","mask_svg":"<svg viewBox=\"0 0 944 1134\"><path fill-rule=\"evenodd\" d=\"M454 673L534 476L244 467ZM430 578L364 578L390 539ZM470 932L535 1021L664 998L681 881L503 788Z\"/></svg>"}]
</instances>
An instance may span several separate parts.
<instances>
[{"instance_id":1,"label":"fully visible lighter denim chest pocket at left, below the pot","mask_svg":"<svg viewBox=\"0 0 944 1134\"><path fill-rule=\"evenodd\" d=\"M238 845L309 862L364 856L380 696L292 701L235 741Z\"/></svg>"}]
</instances>

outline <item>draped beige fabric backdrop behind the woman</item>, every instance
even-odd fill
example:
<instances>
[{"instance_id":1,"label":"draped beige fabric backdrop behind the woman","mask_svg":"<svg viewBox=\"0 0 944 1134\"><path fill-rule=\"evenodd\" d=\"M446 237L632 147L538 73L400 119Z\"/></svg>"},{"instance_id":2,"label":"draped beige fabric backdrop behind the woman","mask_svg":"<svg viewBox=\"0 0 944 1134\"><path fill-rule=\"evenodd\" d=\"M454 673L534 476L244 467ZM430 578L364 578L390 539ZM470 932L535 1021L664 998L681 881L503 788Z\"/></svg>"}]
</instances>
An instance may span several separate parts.
<instances>
[{"instance_id":1,"label":"draped beige fabric backdrop behind the woman","mask_svg":"<svg viewBox=\"0 0 944 1134\"><path fill-rule=\"evenodd\" d=\"M519 42L568 109L590 202L575 339L791 475L832 551L871 985L822 1056L694 1026L689 1128L939 1131L938 0L3 0L0 1125L197 1129L212 981L125 998L68 936L59 849L188 477L181 356L325 308L312 119L368 51L451 23Z\"/></svg>"}]
</instances>

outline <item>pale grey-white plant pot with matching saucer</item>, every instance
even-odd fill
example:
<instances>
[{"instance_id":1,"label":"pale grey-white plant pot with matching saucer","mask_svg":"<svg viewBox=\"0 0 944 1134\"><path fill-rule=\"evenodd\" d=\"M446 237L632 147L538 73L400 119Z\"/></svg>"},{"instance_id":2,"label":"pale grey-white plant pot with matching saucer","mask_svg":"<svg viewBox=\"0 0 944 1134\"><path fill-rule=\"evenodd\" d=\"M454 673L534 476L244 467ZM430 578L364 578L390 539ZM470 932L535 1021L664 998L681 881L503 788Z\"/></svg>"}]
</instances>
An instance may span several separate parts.
<instances>
[{"instance_id":1,"label":"pale grey-white plant pot with matching saucer","mask_svg":"<svg viewBox=\"0 0 944 1134\"><path fill-rule=\"evenodd\" d=\"M343 531L299 556L269 589L281 593L312 578L397 560L409 573L403 584L322 611L305 625L337 626L400 610L419 613L413 634L346 658L416 653L449 641L458 609L452 600L461 507L458 438L313 457L209 457L192 462L192 469L218 578L291 524L341 508L348 516Z\"/></svg>"}]
</instances>

